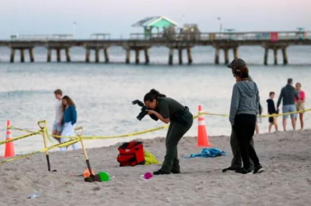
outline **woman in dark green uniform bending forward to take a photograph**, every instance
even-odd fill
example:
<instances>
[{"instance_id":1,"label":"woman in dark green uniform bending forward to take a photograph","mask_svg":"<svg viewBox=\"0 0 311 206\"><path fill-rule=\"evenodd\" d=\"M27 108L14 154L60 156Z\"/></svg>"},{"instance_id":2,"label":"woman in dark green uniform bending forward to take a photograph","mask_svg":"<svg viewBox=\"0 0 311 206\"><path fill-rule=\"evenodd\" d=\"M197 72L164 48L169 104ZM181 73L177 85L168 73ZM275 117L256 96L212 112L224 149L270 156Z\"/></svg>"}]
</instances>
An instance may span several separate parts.
<instances>
[{"instance_id":1,"label":"woman in dark green uniform bending forward to take a photograph","mask_svg":"<svg viewBox=\"0 0 311 206\"><path fill-rule=\"evenodd\" d=\"M144 97L144 103L148 106L148 114L154 120L161 120L170 123L166 135L166 155L158 174L180 173L179 160L177 155L178 141L190 129L193 117L187 106L183 106L172 98L160 94L157 90L151 89Z\"/></svg>"}]
</instances>

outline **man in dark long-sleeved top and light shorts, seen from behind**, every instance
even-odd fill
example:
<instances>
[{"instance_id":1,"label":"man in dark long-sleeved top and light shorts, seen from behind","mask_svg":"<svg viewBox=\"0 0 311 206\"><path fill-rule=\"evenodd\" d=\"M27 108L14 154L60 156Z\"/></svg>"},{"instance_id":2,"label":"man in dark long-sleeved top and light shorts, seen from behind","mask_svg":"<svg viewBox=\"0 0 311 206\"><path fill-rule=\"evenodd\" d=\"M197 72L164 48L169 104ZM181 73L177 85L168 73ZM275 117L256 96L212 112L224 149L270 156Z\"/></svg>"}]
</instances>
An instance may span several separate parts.
<instances>
[{"instance_id":1,"label":"man in dark long-sleeved top and light shorts, seen from behind","mask_svg":"<svg viewBox=\"0 0 311 206\"><path fill-rule=\"evenodd\" d=\"M282 107L282 112L283 113L288 113L288 112L295 112L296 107L295 107L295 102L294 102L294 97L299 99L298 92L295 90L295 87L293 86L293 79L289 78L287 80L287 85L284 86L281 89L280 96L277 101L277 109L283 100L283 107ZM289 115L283 115L283 129L286 131L286 120ZM297 114L291 114L291 119L292 119L292 125L293 125L293 130L296 129L296 119Z\"/></svg>"}]
</instances>

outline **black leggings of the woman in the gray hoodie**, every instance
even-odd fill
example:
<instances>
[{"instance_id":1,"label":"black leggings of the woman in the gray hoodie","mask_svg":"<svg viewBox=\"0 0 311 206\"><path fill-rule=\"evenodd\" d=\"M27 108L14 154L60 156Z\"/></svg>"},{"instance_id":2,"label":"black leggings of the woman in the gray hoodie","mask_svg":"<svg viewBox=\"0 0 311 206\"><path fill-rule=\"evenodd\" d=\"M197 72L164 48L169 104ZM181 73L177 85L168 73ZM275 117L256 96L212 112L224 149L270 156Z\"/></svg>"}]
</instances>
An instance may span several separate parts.
<instances>
[{"instance_id":1,"label":"black leggings of the woman in the gray hoodie","mask_svg":"<svg viewBox=\"0 0 311 206\"><path fill-rule=\"evenodd\" d=\"M254 162L254 166L259 165L259 159L254 147L251 146L250 140L254 135L256 125L256 115L239 114L234 119L233 129L238 137L243 168L249 169L249 158Z\"/></svg>"}]
</instances>

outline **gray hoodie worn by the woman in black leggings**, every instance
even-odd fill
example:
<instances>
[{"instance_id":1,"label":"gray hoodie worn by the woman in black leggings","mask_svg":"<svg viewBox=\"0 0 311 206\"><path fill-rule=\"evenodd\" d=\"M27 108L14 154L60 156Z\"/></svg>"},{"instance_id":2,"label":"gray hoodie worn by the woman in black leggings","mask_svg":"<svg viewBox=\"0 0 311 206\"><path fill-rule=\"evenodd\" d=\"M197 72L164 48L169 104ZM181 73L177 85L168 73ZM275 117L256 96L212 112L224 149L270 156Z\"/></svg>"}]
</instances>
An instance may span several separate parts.
<instances>
[{"instance_id":1,"label":"gray hoodie worn by the woman in black leggings","mask_svg":"<svg viewBox=\"0 0 311 206\"><path fill-rule=\"evenodd\" d=\"M241 81L233 86L229 120L234 125L238 114L257 115L259 113L259 91L255 82Z\"/></svg>"}]
</instances>

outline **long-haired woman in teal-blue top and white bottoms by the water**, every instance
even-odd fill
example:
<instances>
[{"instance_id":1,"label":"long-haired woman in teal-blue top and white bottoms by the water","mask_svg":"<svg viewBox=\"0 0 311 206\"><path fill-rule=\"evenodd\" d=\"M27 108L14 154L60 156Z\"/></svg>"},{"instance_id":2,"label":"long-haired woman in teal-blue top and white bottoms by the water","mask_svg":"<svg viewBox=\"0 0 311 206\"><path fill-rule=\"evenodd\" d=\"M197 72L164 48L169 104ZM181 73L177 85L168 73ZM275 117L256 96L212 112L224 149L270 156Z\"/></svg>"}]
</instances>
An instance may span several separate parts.
<instances>
[{"instance_id":1,"label":"long-haired woman in teal-blue top and white bottoms by the water","mask_svg":"<svg viewBox=\"0 0 311 206\"><path fill-rule=\"evenodd\" d=\"M62 104L63 104L63 110L64 110L63 121L62 121L62 124L64 124L64 130L62 132L62 136L74 137L75 134L73 131L73 127L75 123L77 122L76 106L68 96L64 96L62 98ZM68 141L68 139L61 138L61 142L65 142L65 141ZM74 150L78 149L78 143L72 144L72 148ZM61 147L60 149L61 151L65 151L67 150L67 147Z\"/></svg>"}]
</instances>

